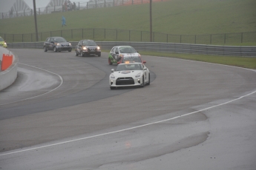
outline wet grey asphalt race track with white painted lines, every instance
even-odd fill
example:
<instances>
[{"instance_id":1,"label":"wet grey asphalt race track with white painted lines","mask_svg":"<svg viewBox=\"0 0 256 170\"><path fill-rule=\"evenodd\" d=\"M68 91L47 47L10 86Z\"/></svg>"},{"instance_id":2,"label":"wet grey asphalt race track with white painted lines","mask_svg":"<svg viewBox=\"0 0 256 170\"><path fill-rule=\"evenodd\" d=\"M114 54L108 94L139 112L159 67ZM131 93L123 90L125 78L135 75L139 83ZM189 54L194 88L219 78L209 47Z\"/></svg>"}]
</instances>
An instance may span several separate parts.
<instances>
[{"instance_id":1,"label":"wet grey asphalt race track with white painted lines","mask_svg":"<svg viewBox=\"0 0 256 170\"><path fill-rule=\"evenodd\" d=\"M111 90L108 53L13 49L1 169L254 169L255 70L142 55L151 85Z\"/></svg>"}]
</instances>

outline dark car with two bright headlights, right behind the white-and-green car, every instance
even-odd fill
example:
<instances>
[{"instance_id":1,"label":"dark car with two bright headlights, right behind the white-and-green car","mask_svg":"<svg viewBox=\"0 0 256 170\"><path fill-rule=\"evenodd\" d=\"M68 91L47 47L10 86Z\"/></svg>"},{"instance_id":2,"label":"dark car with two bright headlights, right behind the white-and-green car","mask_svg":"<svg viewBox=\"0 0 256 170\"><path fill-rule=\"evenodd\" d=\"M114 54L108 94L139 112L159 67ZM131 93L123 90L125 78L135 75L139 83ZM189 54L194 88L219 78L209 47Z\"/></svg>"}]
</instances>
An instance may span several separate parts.
<instances>
[{"instance_id":1,"label":"dark car with two bright headlights, right behind the white-and-green car","mask_svg":"<svg viewBox=\"0 0 256 170\"><path fill-rule=\"evenodd\" d=\"M93 40L81 40L76 45L76 56L81 55L100 55L102 54L100 47Z\"/></svg>"}]
</instances>

